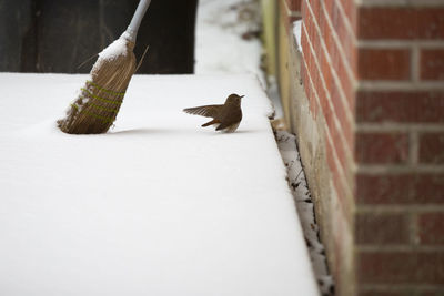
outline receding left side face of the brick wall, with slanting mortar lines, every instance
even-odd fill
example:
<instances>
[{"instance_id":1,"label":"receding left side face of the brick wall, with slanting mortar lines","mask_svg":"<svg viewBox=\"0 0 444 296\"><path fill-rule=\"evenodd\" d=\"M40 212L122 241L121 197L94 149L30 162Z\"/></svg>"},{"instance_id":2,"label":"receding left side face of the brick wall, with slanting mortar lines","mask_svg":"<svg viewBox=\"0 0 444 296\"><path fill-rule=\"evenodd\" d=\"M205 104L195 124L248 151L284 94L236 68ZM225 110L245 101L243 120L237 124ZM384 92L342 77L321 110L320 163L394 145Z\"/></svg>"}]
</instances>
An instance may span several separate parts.
<instances>
[{"instance_id":1,"label":"receding left side face of the brick wall, with slanting mortar lines","mask_svg":"<svg viewBox=\"0 0 444 296\"><path fill-rule=\"evenodd\" d=\"M349 8L350 9L350 8ZM331 271L339 295L353 295L355 290L353 256L353 151L354 151L354 88L355 49L353 21L339 1L302 2L302 81L321 134L324 172L329 175L327 190L316 195L321 213L331 212L324 222L323 237L327 239ZM297 131L295 131L297 133ZM300 139L300 142L305 141ZM319 165L319 164L317 164ZM325 186L312 182L313 186ZM322 200L329 196L327 204Z\"/></svg>"}]
</instances>

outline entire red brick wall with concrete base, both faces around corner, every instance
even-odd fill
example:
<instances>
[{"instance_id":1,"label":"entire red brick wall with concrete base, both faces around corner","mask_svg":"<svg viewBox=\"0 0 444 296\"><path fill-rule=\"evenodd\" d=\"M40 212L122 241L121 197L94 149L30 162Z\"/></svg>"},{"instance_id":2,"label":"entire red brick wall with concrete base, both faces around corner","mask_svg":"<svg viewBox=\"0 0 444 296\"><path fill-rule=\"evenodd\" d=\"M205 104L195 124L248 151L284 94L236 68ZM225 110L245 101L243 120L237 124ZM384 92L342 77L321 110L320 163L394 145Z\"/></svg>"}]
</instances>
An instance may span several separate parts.
<instances>
[{"instance_id":1,"label":"entire red brick wall with concrete base, both faces around corner","mask_svg":"<svg viewBox=\"0 0 444 296\"><path fill-rule=\"evenodd\" d=\"M337 294L444 295L444 1L280 6L280 89Z\"/></svg>"}]
</instances>

